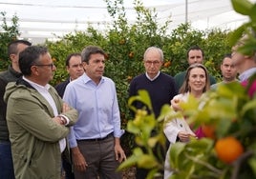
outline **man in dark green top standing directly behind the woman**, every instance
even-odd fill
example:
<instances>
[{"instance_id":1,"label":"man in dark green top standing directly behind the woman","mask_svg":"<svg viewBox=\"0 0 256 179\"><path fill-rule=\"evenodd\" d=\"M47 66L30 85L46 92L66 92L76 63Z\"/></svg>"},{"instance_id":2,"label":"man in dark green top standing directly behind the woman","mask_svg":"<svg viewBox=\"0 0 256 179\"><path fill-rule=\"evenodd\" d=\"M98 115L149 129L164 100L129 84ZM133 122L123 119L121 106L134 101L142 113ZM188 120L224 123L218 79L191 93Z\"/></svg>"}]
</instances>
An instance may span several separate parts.
<instances>
[{"instance_id":1,"label":"man in dark green top standing directly behind the woman","mask_svg":"<svg viewBox=\"0 0 256 179\"><path fill-rule=\"evenodd\" d=\"M186 53L187 62L189 66L196 63L203 64L203 56L204 56L203 50L198 46L191 47L189 50L187 50L187 53ZM178 90L181 89L181 86L184 82L185 73L186 71L182 71L174 76L175 87ZM209 78L210 78L210 85L216 83L216 80L213 76L210 75Z\"/></svg>"}]
</instances>

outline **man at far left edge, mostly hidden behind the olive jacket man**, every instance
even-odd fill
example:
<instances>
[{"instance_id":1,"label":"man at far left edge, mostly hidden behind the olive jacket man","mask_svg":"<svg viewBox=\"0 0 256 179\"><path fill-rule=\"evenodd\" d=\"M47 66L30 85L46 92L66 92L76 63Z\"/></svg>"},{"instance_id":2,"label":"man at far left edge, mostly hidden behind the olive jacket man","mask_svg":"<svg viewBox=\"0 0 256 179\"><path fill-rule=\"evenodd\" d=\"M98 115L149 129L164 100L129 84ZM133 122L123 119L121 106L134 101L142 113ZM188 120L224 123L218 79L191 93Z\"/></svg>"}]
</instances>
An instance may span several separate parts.
<instances>
[{"instance_id":1,"label":"man at far left edge, mostly hidden behind the olive jacket man","mask_svg":"<svg viewBox=\"0 0 256 179\"><path fill-rule=\"evenodd\" d=\"M26 40L15 40L8 45L8 55L11 65L8 70L0 73L0 178L14 179L14 171L11 157L11 143L6 120L7 105L4 102L4 93L9 82L16 81L21 75L18 66L19 53L32 44Z\"/></svg>"}]
</instances>

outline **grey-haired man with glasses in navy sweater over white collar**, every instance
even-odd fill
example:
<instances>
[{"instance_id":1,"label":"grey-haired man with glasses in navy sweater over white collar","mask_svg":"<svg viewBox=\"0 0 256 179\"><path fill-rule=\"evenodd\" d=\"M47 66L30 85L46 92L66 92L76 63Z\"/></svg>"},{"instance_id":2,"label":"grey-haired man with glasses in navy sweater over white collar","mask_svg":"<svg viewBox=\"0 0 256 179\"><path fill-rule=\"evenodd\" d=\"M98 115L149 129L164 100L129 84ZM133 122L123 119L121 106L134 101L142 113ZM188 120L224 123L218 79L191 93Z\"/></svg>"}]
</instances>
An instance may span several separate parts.
<instances>
[{"instance_id":1,"label":"grey-haired man with glasses in navy sweater over white collar","mask_svg":"<svg viewBox=\"0 0 256 179\"><path fill-rule=\"evenodd\" d=\"M136 76L130 84L129 96L138 95L139 89L148 91L153 111L156 119L160 115L160 109L164 104L170 104L171 99L177 94L175 89L174 78L168 74L160 72L160 67L163 64L163 52L159 48L150 47L144 52L143 58L145 73ZM136 102L133 104L137 109L146 108L144 104ZM152 135L158 131L154 131ZM158 148L158 147L157 147ZM156 149L157 150L157 149ZM162 150L162 158L165 158L164 149ZM163 161L162 161L163 163ZM163 173L163 170L161 171ZM147 169L137 169L137 179L146 178Z\"/></svg>"}]
</instances>

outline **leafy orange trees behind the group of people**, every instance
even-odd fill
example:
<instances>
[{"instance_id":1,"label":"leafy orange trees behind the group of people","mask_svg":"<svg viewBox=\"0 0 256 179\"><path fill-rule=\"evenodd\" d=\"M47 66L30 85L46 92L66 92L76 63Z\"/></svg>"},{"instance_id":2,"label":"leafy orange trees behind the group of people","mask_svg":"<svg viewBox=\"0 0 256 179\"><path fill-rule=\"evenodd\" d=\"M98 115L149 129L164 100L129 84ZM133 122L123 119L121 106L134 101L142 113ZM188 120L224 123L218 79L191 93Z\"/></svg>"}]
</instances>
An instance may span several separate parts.
<instances>
[{"instance_id":1,"label":"leafy orange trees behind the group of people","mask_svg":"<svg viewBox=\"0 0 256 179\"><path fill-rule=\"evenodd\" d=\"M221 80L220 62L225 53L230 52L228 38L230 30L195 30L190 24L181 24L175 30L169 30L171 17L164 25L158 23L158 13L147 10L139 0L134 0L137 11L137 21L130 25L127 22L122 0L105 0L107 10L114 20L114 25L101 32L89 27L84 31L74 31L57 42L46 41L57 68L52 85L64 81L67 77L65 58L71 52L79 52L88 45L101 47L107 53L105 75L111 77L117 86L117 97L120 107L122 127L126 128L130 119L128 101L128 87L131 79L144 71L142 59L144 50L156 46L163 50L165 62L162 71L174 76L186 70L186 50L198 45L204 50L204 65L211 75ZM0 70L6 70L9 63L7 44L19 36L18 17L12 18L11 26L6 24L5 12L0 34ZM107 25L106 25L107 26ZM125 144L133 145L127 139Z\"/></svg>"}]
</instances>

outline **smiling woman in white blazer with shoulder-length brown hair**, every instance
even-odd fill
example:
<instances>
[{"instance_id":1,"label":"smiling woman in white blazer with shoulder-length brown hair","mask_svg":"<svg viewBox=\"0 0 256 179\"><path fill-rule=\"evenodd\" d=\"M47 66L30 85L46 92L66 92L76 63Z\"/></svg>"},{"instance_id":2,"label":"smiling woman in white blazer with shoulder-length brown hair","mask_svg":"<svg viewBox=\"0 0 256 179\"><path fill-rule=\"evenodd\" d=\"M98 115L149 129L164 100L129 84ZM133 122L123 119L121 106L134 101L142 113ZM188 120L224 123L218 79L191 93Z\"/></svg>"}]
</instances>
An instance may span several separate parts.
<instances>
[{"instance_id":1,"label":"smiling woman in white blazer with shoulder-length brown hair","mask_svg":"<svg viewBox=\"0 0 256 179\"><path fill-rule=\"evenodd\" d=\"M189 95L193 95L195 98L200 99L203 93L210 89L209 75L207 70L202 64L193 64L187 70L185 74L185 81L183 82L180 94L176 95L171 100L171 108L175 111L181 110L180 102L186 102ZM166 117L167 119L167 117ZM164 179L168 179L172 175L172 169L170 167L170 150L172 144L176 142L189 142L191 137L201 138L203 137L203 131L201 127L196 130L190 129L183 117L167 121L164 125L163 132L170 142L170 147L166 153L164 164Z\"/></svg>"}]
</instances>

